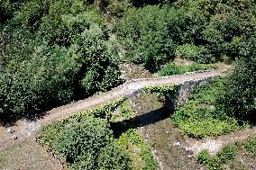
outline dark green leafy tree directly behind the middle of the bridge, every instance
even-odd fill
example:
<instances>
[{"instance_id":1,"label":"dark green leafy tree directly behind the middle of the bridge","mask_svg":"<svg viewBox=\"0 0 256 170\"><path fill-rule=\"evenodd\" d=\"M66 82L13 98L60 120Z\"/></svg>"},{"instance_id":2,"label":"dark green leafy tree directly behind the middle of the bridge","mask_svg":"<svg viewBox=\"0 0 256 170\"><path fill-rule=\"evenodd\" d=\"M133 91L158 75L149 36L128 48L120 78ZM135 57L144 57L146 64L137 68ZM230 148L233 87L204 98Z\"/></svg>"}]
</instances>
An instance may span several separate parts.
<instances>
[{"instance_id":1,"label":"dark green leafy tree directly behind the middle of the bridge","mask_svg":"<svg viewBox=\"0 0 256 170\"><path fill-rule=\"evenodd\" d=\"M115 25L115 32L128 50L128 58L154 70L173 57L175 43L165 28L165 20L169 18L167 13L168 8L160 10L159 6L131 9Z\"/></svg>"}]
</instances>

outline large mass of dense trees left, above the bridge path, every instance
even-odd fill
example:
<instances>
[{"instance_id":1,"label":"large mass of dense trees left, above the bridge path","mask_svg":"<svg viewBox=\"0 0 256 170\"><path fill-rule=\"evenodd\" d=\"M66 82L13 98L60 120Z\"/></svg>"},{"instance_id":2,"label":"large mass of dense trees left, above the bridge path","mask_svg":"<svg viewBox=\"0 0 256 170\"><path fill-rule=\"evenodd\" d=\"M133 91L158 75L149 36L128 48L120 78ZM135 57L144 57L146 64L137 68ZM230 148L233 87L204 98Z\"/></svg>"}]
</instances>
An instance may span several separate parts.
<instances>
[{"instance_id":1,"label":"large mass of dense trees left, above the bridge path","mask_svg":"<svg viewBox=\"0 0 256 170\"><path fill-rule=\"evenodd\" d=\"M120 83L103 20L82 1L26 1L0 28L1 117L47 110Z\"/></svg>"}]
</instances>

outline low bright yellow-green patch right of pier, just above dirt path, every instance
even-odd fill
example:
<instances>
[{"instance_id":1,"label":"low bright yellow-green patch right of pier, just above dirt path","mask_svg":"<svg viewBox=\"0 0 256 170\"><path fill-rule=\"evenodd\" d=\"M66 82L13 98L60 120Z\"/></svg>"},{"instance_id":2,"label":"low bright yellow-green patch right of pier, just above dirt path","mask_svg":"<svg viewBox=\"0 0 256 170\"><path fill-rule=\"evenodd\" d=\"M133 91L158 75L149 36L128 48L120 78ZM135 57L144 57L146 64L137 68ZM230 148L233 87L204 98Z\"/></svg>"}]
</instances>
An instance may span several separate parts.
<instances>
[{"instance_id":1,"label":"low bright yellow-green patch right of pier, just above dirt path","mask_svg":"<svg viewBox=\"0 0 256 170\"><path fill-rule=\"evenodd\" d=\"M212 108L201 108L197 102L188 102L172 115L182 135L196 138L215 137L239 130L236 120L217 116Z\"/></svg>"}]
</instances>

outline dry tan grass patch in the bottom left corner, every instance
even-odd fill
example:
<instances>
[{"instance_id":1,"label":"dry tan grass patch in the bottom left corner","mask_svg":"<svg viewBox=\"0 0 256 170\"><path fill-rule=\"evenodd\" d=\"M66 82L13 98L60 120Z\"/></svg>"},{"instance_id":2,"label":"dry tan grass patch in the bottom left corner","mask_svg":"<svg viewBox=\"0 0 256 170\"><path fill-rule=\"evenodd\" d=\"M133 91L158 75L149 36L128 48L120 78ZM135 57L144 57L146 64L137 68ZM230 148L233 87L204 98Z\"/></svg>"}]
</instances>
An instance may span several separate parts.
<instances>
[{"instance_id":1,"label":"dry tan grass patch in the bottom left corner","mask_svg":"<svg viewBox=\"0 0 256 170\"><path fill-rule=\"evenodd\" d=\"M19 141L0 149L0 169L60 170L62 166L37 143Z\"/></svg>"}]
</instances>

